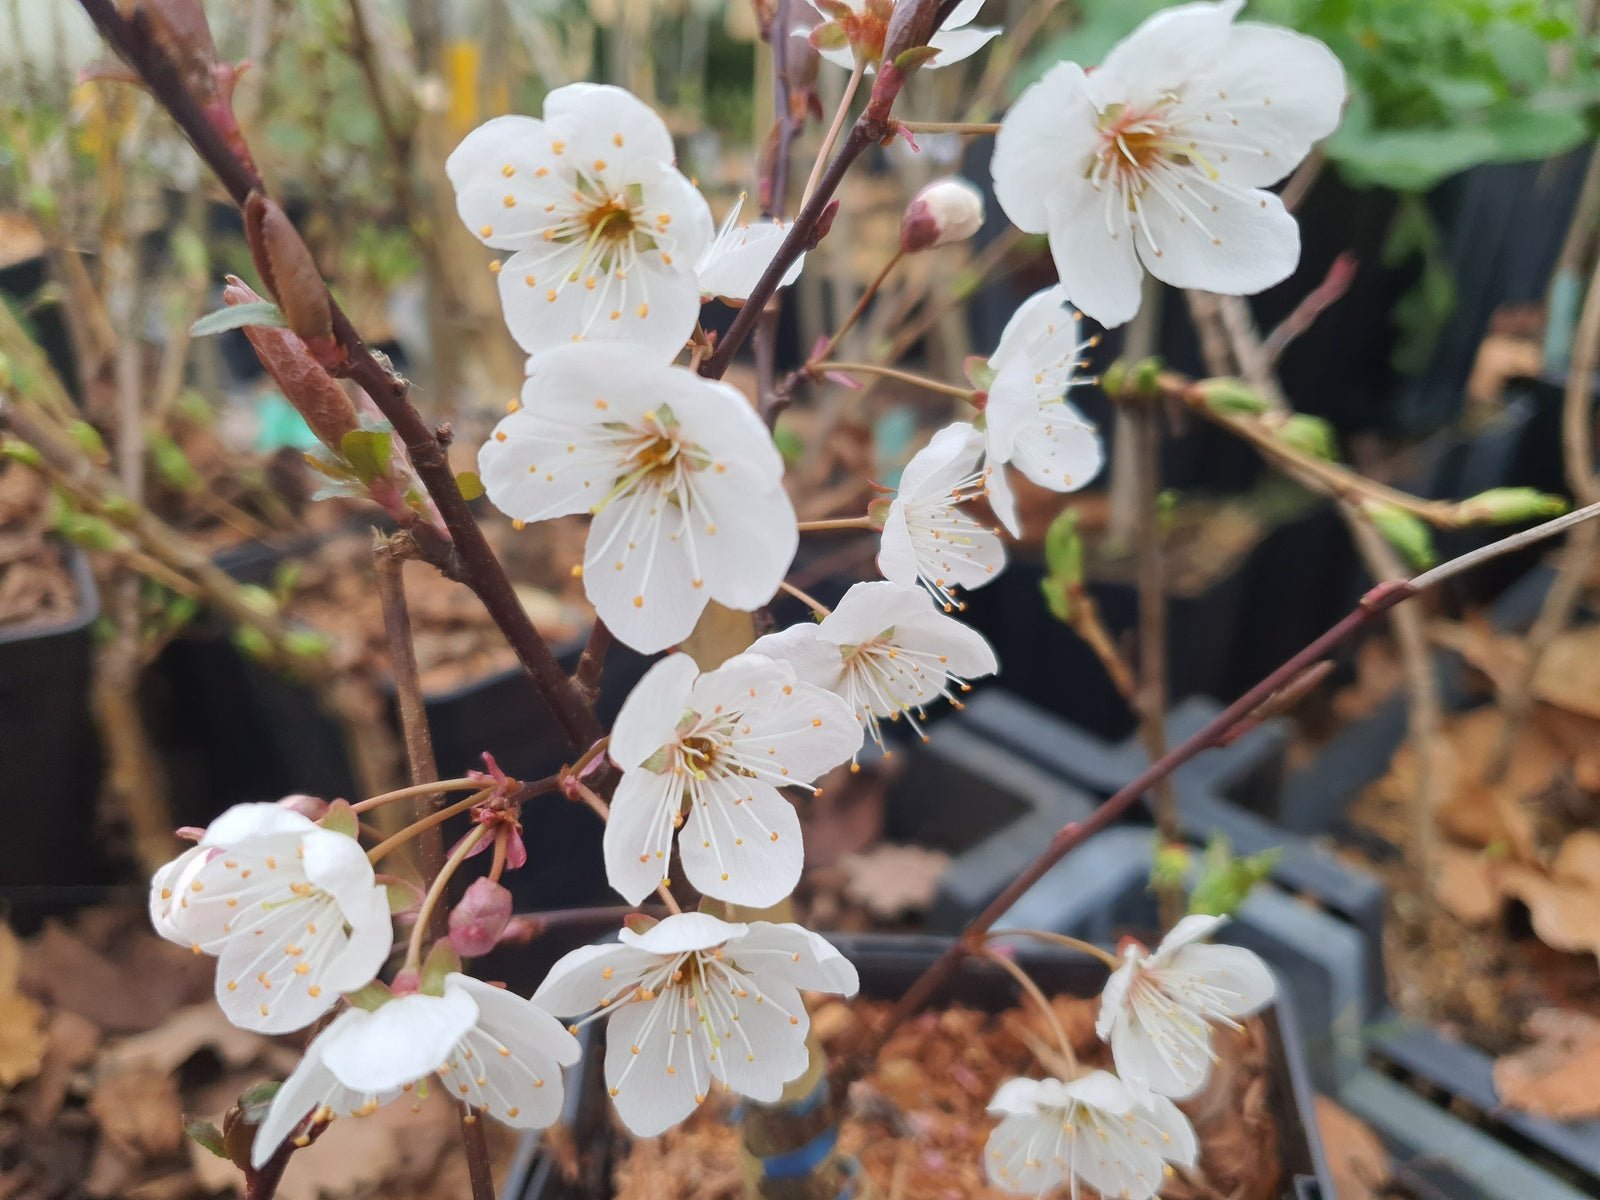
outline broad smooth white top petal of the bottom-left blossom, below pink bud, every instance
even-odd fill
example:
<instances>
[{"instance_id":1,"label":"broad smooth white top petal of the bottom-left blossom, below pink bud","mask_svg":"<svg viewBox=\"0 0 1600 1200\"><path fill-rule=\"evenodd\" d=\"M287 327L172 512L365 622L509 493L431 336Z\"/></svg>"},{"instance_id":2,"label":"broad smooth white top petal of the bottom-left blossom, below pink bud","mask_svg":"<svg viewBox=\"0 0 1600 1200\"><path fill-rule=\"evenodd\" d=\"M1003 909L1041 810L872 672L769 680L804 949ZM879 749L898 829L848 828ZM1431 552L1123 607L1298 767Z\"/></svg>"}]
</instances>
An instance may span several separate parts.
<instances>
[{"instance_id":1,"label":"broad smooth white top petal of the bottom-left blossom, below pink bud","mask_svg":"<svg viewBox=\"0 0 1600 1200\"><path fill-rule=\"evenodd\" d=\"M328 1038L323 1062L347 1088L398 1088L438 1069L477 1019L478 1006L462 989L395 997Z\"/></svg>"}]
</instances>

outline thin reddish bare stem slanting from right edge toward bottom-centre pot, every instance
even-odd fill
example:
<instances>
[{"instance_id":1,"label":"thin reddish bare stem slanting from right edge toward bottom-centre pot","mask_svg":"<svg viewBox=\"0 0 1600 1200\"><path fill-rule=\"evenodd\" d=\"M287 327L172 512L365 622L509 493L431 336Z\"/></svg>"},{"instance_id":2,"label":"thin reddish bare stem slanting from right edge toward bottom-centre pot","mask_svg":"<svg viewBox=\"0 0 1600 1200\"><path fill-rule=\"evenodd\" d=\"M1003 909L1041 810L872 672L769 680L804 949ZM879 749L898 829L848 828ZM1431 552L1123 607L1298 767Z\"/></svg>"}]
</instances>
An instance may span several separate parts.
<instances>
[{"instance_id":1,"label":"thin reddish bare stem slanting from right edge toward bottom-centre pot","mask_svg":"<svg viewBox=\"0 0 1600 1200\"><path fill-rule=\"evenodd\" d=\"M1038 883L1038 880L1043 878L1051 867L1054 867L1070 851L1083 845L1090 837L1117 821L1139 800L1141 795L1149 792L1160 781L1171 778L1171 774L1186 762L1203 750L1222 746L1229 739L1229 734L1237 726L1250 722L1256 709L1270 699L1274 693L1288 688L1304 672L1315 669L1317 664L1333 650L1341 646L1395 605L1422 595L1445 581L1454 579L1461 573L1480 566L1491 558L1514 554L1525 546L1544 541L1546 538L1554 538L1555 534L1565 533L1574 525L1595 517L1600 517L1600 504L1590 504L1584 509L1578 509L1576 512L1570 512L1565 517L1557 517L1555 520L1536 525L1531 530L1514 533L1509 538L1502 538L1498 542L1491 542L1490 546L1464 554L1459 558L1451 558L1450 562L1424 571L1413 579L1392 579L1373 587L1338 624L1283 662L1277 670L1261 680L1243 696L1229 704L1222 712L1206 722L1202 730L1195 731L1179 746L1174 746L1158 762L1146 766L1134 779L1090 813L1090 816L1083 821L1074 821L1072 824L1062 826L1050 840L1045 851L1022 874L1011 880L1011 883L1008 883L1000 894L995 896L994 901L990 901L984 910L973 918L962 936L952 941L944 954L941 954L906 990L899 1003L890 1013L888 1021L885 1021L885 1024L878 1029L877 1038L872 1045L872 1053L882 1050L888 1042L890 1034L893 1034L899 1024L909 1019L933 998L938 989L950 978L950 974L954 974L962 958L982 947L984 938L989 930L994 928L994 923L1010 912L1011 907L1035 883Z\"/></svg>"}]
</instances>

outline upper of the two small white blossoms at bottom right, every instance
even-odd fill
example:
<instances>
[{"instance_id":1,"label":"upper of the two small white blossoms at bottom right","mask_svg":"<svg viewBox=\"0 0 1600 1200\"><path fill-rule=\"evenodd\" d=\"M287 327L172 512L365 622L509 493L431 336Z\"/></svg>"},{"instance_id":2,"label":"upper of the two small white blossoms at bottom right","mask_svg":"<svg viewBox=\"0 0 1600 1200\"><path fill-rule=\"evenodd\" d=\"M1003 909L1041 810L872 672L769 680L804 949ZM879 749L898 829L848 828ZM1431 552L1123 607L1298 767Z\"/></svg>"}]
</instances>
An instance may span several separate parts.
<instances>
[{"instance_id":1,"label":"upper of the two small white blossoms at bottom right","mask_svg":"<svg viewBox=\"0 0 1600 1200\"><path fill-rule=\"evenodd\" d=\"M1277 992L1266 963L1240 946L1210 946L1226 917L1184 917L1152 954L1123 950L1101 994L1094 1032L1110 1043L1117 1074L1131 1086L1187 1099L1211 1074L1211 1024L1237 1029Z\"/></svg>"}]
</instances>

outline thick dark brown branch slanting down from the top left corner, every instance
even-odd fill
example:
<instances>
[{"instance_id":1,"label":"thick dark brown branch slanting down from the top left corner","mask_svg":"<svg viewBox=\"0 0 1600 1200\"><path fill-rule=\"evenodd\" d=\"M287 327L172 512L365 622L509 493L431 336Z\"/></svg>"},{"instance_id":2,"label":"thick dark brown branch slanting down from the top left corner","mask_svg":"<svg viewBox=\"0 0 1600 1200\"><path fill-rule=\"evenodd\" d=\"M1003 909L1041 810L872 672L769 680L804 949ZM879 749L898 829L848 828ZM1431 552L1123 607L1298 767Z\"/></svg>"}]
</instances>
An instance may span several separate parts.
<instances>
[{"instance_id":1,"label":"thick dark brown branch slanting down from the top left corner","mask_svg":"<svg viewBox=\"0 0 1600 1200\"><path fill-rule=\"evenodd\" d=\"M237 125L229 136L221 122L208 115L208 109L192 94L182 72L154 34L147 13L133 8L131 14L123 16L115 0L80 0L80 3L106 42L173 117L234 202L243 210L251 197L264 195L254 165L246 154L240 154L243 144L237 136ZM326 282L315 270L310 275L296 277L294 293L278 296L278 301L288 307L307 306L325 315L330 346L322 347L328 358L323 365L330 373L363 387L405 443L411 466L438 507L453 539L419 541L419 552L446 576L459 579L477 594L539 694L550 706L568 741L573 746L587 746L600 736L600 723L579 694L578 685L566 677L534 629L504 566L462 499L445 453L450 443L448 430L435 430L422 419L410 400L410 382L365 344L338 301L328 293Z\"/></svg>"}]
</instances>

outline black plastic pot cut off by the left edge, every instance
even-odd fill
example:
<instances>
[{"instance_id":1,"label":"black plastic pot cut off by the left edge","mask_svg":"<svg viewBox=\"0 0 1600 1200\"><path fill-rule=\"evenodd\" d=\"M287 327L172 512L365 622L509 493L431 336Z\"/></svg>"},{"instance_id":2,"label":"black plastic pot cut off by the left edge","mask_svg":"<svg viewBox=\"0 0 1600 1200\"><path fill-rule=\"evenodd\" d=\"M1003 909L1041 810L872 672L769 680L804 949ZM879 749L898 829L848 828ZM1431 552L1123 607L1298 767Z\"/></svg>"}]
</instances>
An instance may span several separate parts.
<instances>
[{"instance_id":1,"label":"black plastic pot cut off by the left edge","mask_svg":"<svg viewBox=\"0 0 1600 1200\"><path fill-rule=\"evenodd\" d=\"M85 837L101 773L90 704L99 592L83 552L67 560L77 611L54 624L0 627L0 907L27 926L107 882Z\"/></svg>"}]
</instances>

